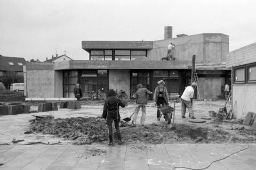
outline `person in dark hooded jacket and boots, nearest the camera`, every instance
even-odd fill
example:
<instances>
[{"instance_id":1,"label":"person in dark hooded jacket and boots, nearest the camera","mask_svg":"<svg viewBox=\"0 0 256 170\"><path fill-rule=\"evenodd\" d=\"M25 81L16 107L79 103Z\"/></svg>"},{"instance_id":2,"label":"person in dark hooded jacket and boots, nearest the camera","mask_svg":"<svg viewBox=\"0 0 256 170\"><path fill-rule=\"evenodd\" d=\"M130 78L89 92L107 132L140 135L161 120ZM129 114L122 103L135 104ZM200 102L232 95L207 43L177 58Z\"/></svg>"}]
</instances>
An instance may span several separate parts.
<instances>
[{"instance_id":1,"label":"person in dark hooded jacket and boots, nearest the camera","mask_svg":"<svg viewBox=\"0 0 256 170\"><path fill-rule=\"evenodd\" d=\"M125 104L119 98L116 97L115 90L109 89L108 98L105 101L102 113L102 117L106 119L108 125L109 145L113 145L113 121L115 123L115 128L117 132L118 144L121 145L123 143L121 139L121 131L119 129L119 122L121 119L119 114L119 106L125 107Z\"/></svg>"}]
</instances>

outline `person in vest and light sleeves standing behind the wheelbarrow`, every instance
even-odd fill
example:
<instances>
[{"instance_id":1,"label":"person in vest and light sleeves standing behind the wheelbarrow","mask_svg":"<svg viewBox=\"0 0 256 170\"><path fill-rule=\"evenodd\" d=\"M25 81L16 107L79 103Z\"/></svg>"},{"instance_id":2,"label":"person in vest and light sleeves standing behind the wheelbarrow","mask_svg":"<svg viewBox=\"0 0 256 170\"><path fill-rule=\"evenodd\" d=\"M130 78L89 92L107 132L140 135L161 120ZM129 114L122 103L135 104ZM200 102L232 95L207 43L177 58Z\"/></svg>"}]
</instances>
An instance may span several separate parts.
<instances>
[{"instance_id":1,"label":"person in vest and light sleeves standing behind the wheelbarrow","mask_svg":"<svg viewBox=\"0 0 256 170\"><path fill-rule=\"evenodd\" d=\"M166 87L164 87L165 82L163 80L160 80L157 82L158 86L155 89L154 92L154 104L158 107L163 105L169 105L169 95L167 92ZM157 109L156 113L157 120L160 121L160 111Z\"/></svg>"}]
</instances>

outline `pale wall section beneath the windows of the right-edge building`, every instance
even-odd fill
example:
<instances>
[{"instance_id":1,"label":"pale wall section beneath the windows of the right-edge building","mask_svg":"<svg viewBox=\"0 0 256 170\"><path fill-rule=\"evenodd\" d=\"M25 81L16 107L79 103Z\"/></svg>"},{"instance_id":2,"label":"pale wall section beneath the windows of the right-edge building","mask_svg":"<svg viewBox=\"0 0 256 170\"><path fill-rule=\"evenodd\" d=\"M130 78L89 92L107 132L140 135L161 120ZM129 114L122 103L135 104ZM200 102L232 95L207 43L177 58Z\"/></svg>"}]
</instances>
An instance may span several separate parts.
<instances>
[{"instance_id":1,"label":"pale wall section beneath the windows of the right-edge building","mask_svg":"<svg viewBox=\"0 0 256 170\"><path fill-rule=\"evenodd\" d=\"M232 86L232 103L233 107L236 102L235 118L246 116L247 112L256 111L256 84L235 84Z\"/></svg>"}]
</instances>

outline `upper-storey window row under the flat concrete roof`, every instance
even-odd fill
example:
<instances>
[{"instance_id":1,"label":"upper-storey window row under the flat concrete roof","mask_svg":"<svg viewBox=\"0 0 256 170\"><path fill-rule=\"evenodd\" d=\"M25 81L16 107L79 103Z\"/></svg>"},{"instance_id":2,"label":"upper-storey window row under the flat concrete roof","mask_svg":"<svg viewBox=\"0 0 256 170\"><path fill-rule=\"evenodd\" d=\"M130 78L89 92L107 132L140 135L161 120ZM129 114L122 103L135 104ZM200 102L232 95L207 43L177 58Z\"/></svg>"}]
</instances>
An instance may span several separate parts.
<instances>
[{"instance_id":1,"label":"upper-storey window row under the flat concrete roof","mask_svg":"<svg viewBox=\"0 0 256 170\"><path fill-rule=\"evenodd\" d=\"M91 50L90 60L130 61L147 57L146 50Z\"/></svg>"}]
</instances>

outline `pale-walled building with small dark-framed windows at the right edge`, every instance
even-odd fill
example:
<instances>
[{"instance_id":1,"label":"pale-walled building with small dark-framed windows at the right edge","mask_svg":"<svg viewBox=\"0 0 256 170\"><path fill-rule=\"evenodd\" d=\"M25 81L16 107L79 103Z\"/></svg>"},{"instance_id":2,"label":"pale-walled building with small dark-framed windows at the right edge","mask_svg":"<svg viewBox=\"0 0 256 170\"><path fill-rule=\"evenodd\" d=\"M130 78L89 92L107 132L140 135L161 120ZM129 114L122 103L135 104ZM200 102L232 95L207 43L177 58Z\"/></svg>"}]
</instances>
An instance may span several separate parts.
<instances>
[{"instance_id":1,"label":"pale-walled building with small dark-framed windows at the right edge","mask_svg":"<svg viewBox=\"0 0 256 170\"><path fill-rule=\"evenodd\" d=\"M227 55L232 67L232 105L235 118L256 111L256 43L233 50Z\"/></svg>"}]
</instances>

